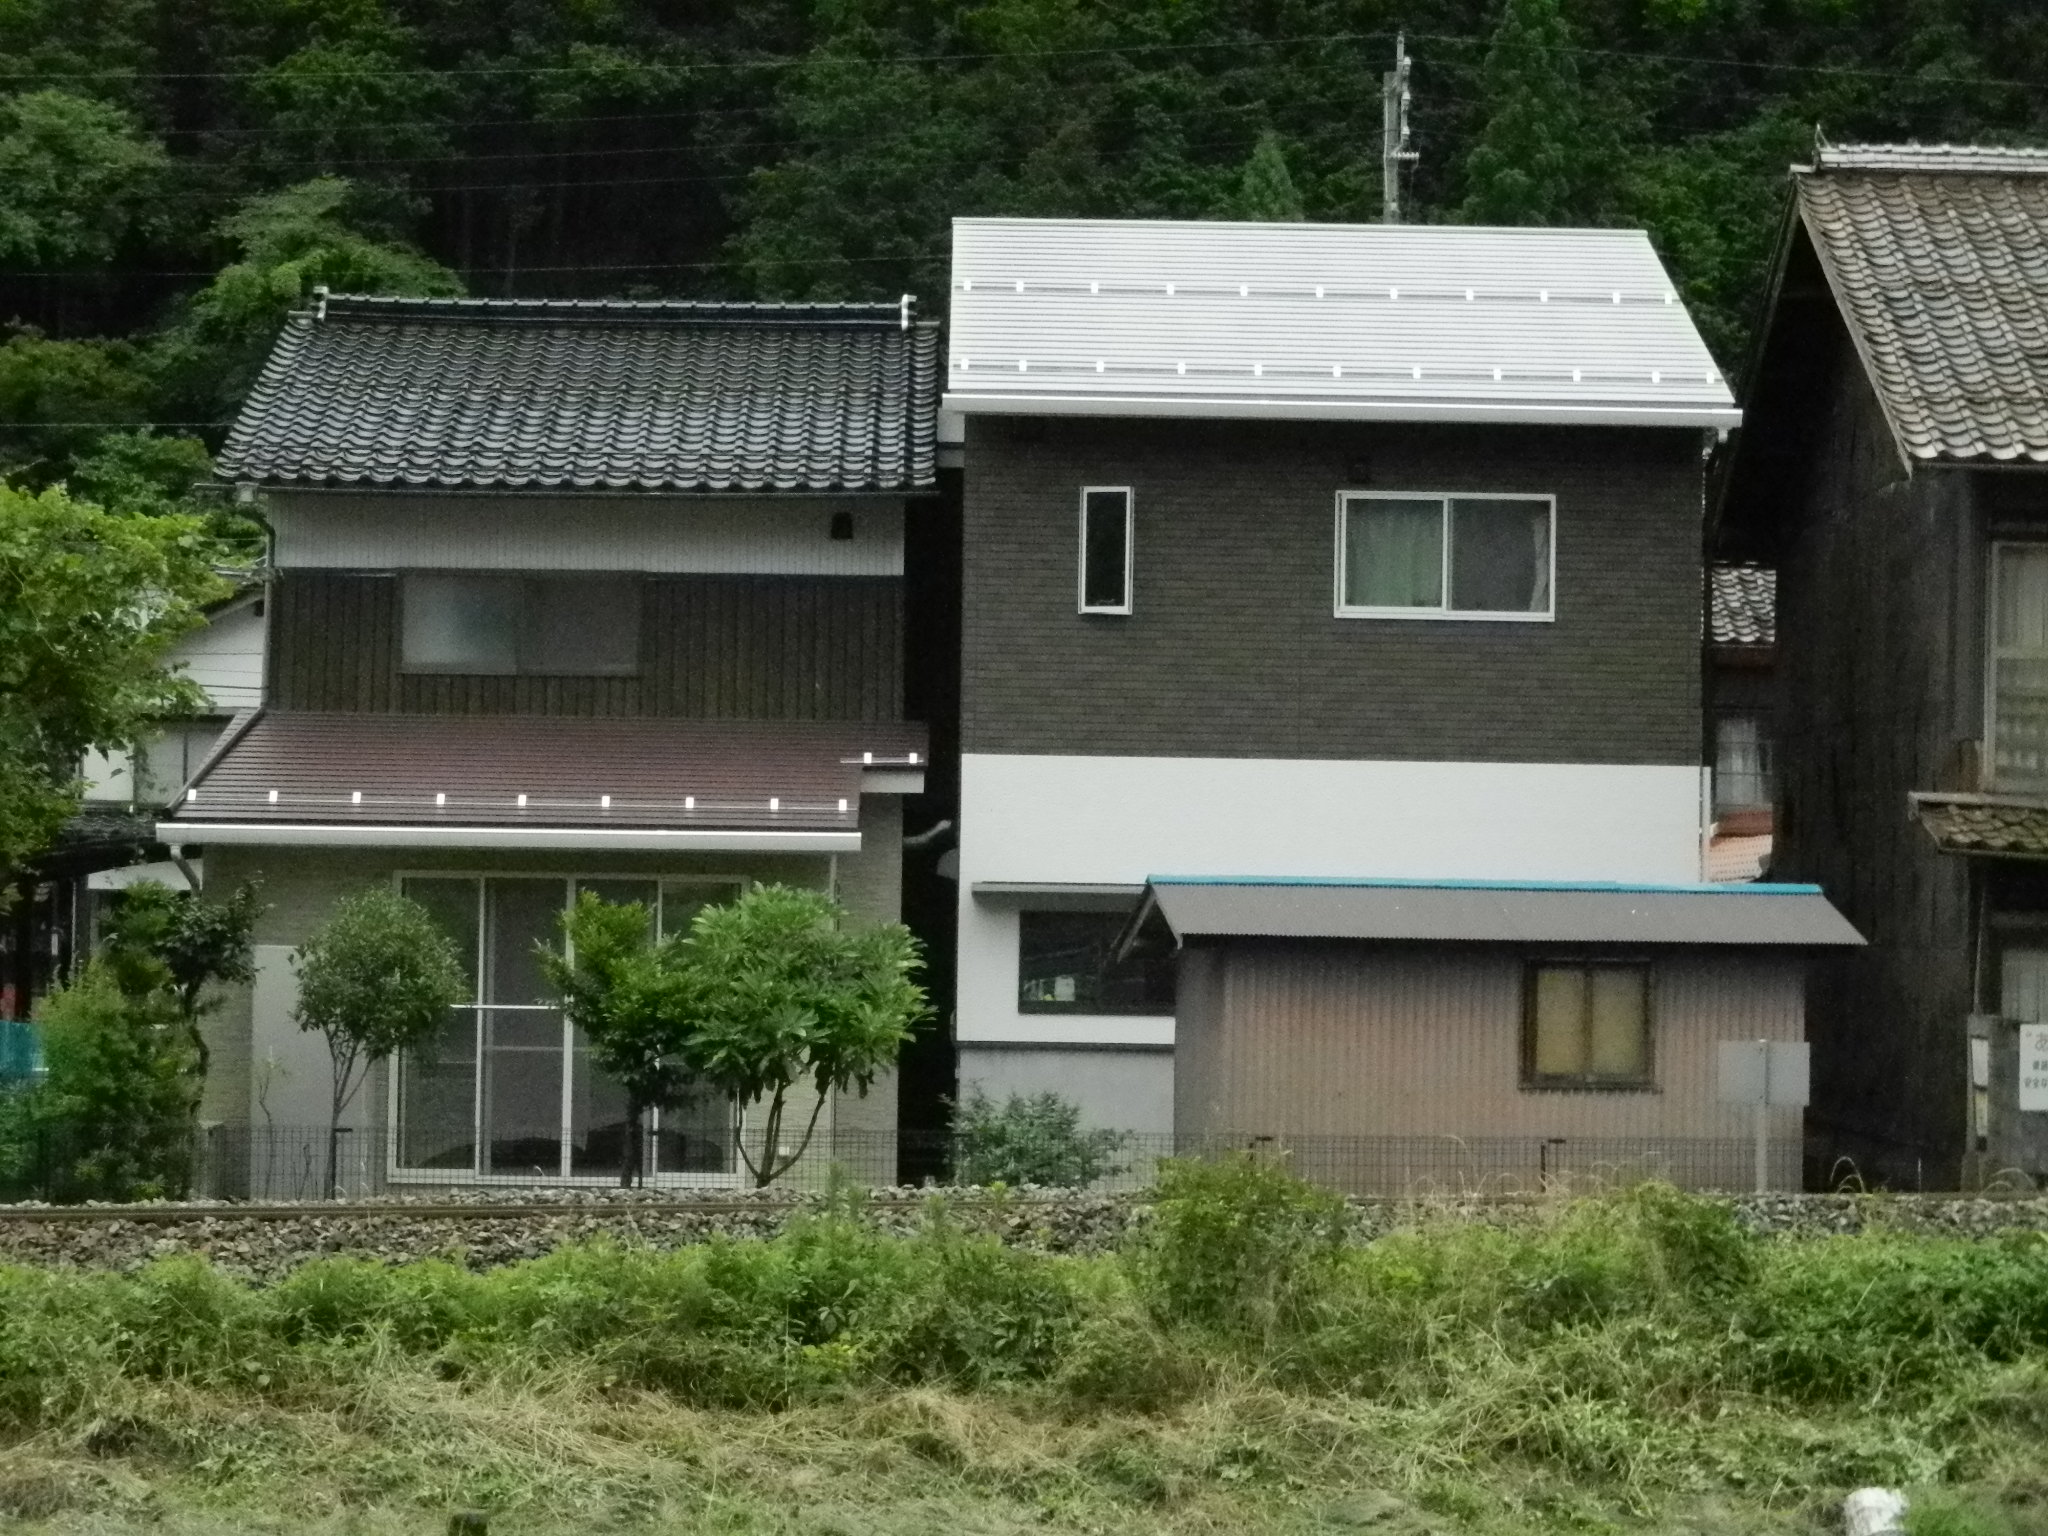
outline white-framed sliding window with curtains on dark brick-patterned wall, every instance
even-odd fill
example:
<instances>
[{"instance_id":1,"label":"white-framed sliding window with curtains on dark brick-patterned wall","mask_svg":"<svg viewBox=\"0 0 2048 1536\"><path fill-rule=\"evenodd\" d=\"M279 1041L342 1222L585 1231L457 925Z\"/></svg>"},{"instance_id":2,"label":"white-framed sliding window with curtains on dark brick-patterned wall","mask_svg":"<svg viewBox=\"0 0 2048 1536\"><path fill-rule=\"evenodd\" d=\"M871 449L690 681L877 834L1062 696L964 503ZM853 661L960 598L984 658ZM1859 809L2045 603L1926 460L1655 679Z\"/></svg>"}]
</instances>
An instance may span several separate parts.
<instances>
[{"instance_id":1,"label":"white-framed sliding window with curtains on dark brick-patterned wall","mask_svg":"<svg viewBox=\"0 0 2048 1536\"><path fill-rule=\"evenodd\" d=\"M1556 498L1337 492L1339 618L1556 616Z\"/></svg>"}]
</instances>

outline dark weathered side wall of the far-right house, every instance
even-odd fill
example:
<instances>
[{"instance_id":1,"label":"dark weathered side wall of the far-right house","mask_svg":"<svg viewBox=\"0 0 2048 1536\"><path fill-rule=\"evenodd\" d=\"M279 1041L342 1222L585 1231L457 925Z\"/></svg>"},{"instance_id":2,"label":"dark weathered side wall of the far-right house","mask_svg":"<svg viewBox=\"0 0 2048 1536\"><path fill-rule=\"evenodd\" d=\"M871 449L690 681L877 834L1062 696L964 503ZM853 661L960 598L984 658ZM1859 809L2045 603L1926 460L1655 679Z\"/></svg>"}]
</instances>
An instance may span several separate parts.
<instances>
[{"instance_id":1,"label":"dark weathered side wall of the far-right house","mask_svg":"<svg viewBox=\"0 0 2048 1536\"><path fill-rule=\"evenodd\" d=\"M1946 1188L1964 1153L1970 872L1907 815L1980 733L1970 479L1907 475L1839 326L1778 557L1780 809L1772 874L1815 881L1870 940L1808 987L1815 1174L1837 1157Z\"/></svg>"}]
</instances>

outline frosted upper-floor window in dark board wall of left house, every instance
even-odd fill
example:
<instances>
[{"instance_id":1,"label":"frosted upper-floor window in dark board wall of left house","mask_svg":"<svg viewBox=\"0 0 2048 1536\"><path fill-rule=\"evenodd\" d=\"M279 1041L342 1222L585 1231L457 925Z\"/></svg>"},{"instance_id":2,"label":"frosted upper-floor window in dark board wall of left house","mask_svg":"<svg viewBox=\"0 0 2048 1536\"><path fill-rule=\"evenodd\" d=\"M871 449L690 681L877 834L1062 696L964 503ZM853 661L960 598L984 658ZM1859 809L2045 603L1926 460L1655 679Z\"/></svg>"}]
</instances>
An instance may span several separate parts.
<instances>
[{"instance_id":1,"label":"frosted upper-floor window in dark board wall of left house","mask_svg":"<svg viewBox=\"0 0 2048 1536\"><path fill-rule=\"evenodd\" d=\"M639 672L631 575L406 575L406 672Z\"/></svg>"}]
</instances>

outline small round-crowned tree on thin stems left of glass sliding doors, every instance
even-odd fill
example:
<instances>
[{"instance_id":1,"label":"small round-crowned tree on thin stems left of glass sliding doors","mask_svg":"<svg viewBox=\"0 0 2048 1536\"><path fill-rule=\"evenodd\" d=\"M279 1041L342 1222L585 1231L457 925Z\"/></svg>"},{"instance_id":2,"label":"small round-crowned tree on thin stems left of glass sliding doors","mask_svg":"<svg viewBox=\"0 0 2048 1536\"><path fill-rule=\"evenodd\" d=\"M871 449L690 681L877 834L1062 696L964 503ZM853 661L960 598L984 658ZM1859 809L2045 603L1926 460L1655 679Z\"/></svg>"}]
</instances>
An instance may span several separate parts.
<instances>
[{"instance_id":1,"label":"small round-crowned tree on thin stems left of glass sliding doors","mask_svg":"<svg viewBox=\"0 0 2048 1536\"><path fill-rule=\"evenodd\" d=\"M426 1042L469 995L455 944L418 901L371 889L346 897L293 956L297 1020L328 1040L334 1067L328 1190L336 1188L342 1114L369 1071Z\"/></svg>"}]
</instances>

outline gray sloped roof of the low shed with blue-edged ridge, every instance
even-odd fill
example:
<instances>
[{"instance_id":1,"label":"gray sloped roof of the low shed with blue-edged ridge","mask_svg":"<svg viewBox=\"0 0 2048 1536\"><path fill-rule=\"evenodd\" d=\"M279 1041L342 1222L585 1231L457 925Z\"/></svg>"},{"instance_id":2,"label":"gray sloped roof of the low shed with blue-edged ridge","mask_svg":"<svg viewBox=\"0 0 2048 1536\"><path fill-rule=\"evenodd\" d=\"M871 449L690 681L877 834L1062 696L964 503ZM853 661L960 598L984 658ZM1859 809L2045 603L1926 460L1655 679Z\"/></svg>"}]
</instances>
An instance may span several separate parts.
<instances>
[{"instance_id":1,"label":"gray sloped roof of the low shed with blue-edged ridge","mask_svg":"<svg viewBox=\"0 0 2048 1536\"><path fill-rule=\"evenodd\" d=\"M1147 907L1180 940L1368 938L1774 948L1864 942L1817 885L1405 885L1155 877Z\"/></svg>"}]
</instances>

